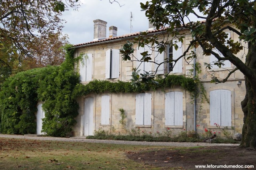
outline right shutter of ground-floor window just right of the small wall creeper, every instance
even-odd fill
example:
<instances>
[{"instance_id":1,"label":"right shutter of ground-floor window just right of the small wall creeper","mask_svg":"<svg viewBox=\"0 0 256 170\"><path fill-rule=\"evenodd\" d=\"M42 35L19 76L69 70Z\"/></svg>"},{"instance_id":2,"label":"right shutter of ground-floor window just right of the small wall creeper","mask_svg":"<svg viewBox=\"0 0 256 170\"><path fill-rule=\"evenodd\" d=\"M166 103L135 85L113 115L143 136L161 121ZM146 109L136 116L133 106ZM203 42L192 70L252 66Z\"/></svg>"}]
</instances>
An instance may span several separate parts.
<instances>
[{"instance_id":1,"label":"right shutter of ground-floor window just right of the small wall creeper","mask_svg":"<svg viewBox=\"0 0 256 170\"><path fill-rule=\"evenodd\" d=\"M151 125L151 93L144 93L144 125Z\"/></svg>"}]
</instances>

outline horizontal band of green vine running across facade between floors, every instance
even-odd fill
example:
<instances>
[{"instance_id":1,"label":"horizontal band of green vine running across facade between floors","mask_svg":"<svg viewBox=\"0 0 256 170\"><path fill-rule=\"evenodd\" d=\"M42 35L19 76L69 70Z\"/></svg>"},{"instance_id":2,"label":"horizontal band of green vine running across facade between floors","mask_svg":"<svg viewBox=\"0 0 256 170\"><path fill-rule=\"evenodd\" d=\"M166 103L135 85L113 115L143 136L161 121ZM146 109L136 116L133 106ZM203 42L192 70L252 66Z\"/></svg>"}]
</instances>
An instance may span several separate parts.
<instances>
[{"instance_id":1,"label":"horizontal band of green vine running across facade between floors","mask_svg":"<svg viewBox=\"0 0 256 170\"><path fill-rule=\"evenodd\" d=\"M194 79L184 75L168 75L166 78L158 77L155 81L158 84L148 85L141 84L134 86L131 82L117 81L110 82L107 80L93 80L86 85L77 84L73 91L73 97L86 96L90 93L142 93L149 90L164 89L166 87L180 86L190 93L196 92L196 83Z\"/></svg>"}]
</instances>

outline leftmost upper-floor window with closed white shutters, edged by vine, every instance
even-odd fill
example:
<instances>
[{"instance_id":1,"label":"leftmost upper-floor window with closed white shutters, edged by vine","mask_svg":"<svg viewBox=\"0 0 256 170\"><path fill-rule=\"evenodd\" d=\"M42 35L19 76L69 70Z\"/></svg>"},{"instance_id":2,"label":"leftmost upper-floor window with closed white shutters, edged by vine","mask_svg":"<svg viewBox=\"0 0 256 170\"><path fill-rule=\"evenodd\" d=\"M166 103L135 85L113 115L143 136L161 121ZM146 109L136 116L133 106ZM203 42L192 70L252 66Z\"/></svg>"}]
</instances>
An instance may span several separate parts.
<instances>
[{"instance_id":1,"label":"leftmost upper-floor window with closed white shutters, edged by vine","mask_svg":"<svg viewBox=\"0 0 256 170\"><path fill-rule=\"evenodd\" d=\"M79 64L80 81L92 80L92 53L83 55L82 61Z\"/></svg>"}]
</instances>

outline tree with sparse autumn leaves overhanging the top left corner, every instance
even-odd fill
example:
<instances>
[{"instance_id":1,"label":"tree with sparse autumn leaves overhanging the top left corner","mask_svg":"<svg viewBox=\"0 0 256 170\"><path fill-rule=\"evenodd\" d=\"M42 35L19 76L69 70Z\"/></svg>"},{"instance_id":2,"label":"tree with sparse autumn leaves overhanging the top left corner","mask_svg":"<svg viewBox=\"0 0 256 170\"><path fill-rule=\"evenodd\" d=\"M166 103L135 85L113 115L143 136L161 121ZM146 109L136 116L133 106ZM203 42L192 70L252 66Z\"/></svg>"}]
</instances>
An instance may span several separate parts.
<instances>
[{"instance_id":1,"label":"tree with sparse autumn leaves overhanging the top left corner","mask_svg":"<svg viewBox=\"0 0 256 170\"><path fill-rule=\"evenodd\" d=\"M78 0L0 0L0 38L10 42L20 57L33 56L37 38L60 33L65 6L77 8ZM36 47L34 47L36 50Z\"/></svg>"}]
</instances>

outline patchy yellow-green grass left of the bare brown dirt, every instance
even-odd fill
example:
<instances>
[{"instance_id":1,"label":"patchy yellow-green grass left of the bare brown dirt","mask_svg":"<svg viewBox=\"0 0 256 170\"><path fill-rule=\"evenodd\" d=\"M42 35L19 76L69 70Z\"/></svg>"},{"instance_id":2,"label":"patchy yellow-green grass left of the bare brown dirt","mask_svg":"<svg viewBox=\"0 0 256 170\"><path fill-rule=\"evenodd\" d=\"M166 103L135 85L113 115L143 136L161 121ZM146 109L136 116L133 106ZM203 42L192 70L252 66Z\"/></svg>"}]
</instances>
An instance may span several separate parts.
<instances>
[{"instance_id":1,"label":"patchy yellow-green grass left of the bare brown dirt","mask_svg":"<svg viewBox=\"0 0 256 170\"><path fill-rule=\"evenodd\" d=\"M135 146L0 138L1 170L161 169L127 159L127 152L163 146ZM167 148L168 149L168 148Z\"/></svg>"}]
</instances>

